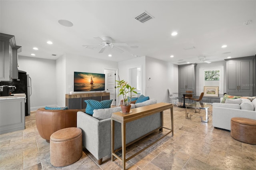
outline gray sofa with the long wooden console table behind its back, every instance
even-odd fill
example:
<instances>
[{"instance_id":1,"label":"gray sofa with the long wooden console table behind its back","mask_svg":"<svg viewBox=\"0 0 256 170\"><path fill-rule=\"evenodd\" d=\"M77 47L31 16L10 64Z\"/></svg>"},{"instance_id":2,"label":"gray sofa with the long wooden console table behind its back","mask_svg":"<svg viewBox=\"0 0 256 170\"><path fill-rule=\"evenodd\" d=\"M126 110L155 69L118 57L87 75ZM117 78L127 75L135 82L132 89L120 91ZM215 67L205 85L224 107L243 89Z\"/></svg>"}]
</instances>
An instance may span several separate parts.
<instances>
[{"instance_id":1,"label":"gray sofa with the long wooden console table behind its back","mask_svg":"<svg viewBox=\"0 0 256 170\"><path fill-rule=\"evenodd\" d=\"M156 99L132 104L132 108L152 105ZM121 111L120 107L94 110L92 116L79 111L77 127L82 129L83 146L102 164L104 156L111 155L111 115ZM138 119L126 124L126 144L161 127L160 113ZM115 150L122 147L121 124L115 123Z\"/></svg>"}]
</instances>

